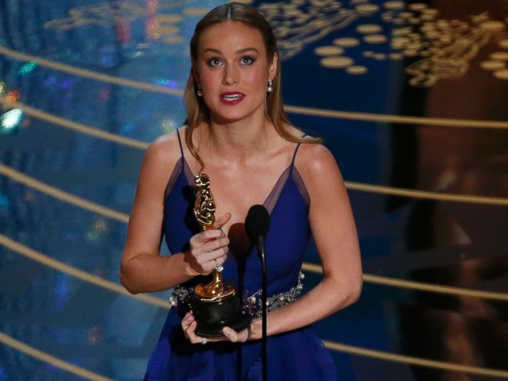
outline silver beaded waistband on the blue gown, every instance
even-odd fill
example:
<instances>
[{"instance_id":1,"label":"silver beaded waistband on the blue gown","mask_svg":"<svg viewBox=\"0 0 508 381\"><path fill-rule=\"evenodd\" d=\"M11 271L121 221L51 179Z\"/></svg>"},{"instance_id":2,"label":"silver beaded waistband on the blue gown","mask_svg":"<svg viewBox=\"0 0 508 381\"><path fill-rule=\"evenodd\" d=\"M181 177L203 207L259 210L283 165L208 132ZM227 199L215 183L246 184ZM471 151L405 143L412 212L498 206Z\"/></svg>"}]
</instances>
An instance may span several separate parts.
<instances>
[{"instance_id":1,"label":"silver beaded waistband on the blue gown","mask_svg":"<svg viewBox=\"0 0 508 381\"><path fill-rule=\"evenodd\" d=\"M298 274L298 283L296 286L291 287L288 291L273 295L273 297L266 298L266 311L270 312L277 308L283 307L291 302L298 299L302 293L303 283L302 280L305 278L302 271ZM187 305L192 308L192 295L194 293L194 287L176 286L173 293L170 296L170 304L173 307L178 306L179 303ZM243 297L243 310L250 314L252 317L260 317L262 313L262 299L261 290L256 291L250 297L247 294Z\"/></svg>"}]
</instances>

